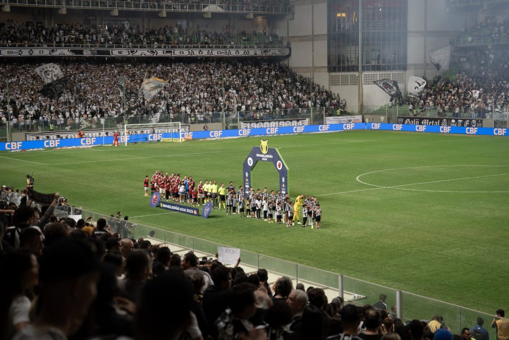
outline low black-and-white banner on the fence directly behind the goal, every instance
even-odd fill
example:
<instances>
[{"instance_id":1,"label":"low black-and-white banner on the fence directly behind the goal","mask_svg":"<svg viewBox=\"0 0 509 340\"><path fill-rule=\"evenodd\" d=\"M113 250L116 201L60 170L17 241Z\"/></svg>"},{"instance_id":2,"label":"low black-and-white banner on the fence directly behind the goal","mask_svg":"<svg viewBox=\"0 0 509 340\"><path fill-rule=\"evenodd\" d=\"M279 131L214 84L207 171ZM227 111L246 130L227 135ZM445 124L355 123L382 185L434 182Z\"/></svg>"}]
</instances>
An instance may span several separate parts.
<instances>
[{"instance_id":1,"label":"low black-and-white banner on the fence directly behind the goal","mask_svg":"<svg viewBox=\"0 0 509 340\"><path fill-rule=\"evenodd\" d=\"M184 132L189 131L189 125L181 125L181 128ZM117 132L122 132L122 128L114 129L105 129L105 130L83 130L84 136L86 138L97 138L97 137L107 137L113 136L113 134ZM179 132L179 127L144 127L144 128L130 128L129 135L150 135L150 134L177 134ZM78 132L77 131L59 131L59 132L44 132L41 134L25 134L27 141L37 141L37 140L47 140L47 139L69 139L76 138ZM159 138L160 139L160 138Z\"/></svg>"}]
</instances>

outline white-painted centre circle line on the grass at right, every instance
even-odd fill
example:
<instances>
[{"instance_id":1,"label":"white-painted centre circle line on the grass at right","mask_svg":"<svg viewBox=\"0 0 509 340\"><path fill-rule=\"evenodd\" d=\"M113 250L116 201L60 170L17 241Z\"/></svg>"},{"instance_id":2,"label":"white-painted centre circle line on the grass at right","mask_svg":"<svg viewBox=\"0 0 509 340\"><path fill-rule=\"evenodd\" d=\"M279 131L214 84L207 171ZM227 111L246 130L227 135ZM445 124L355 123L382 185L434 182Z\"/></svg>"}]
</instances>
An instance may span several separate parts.
<instances>
[{"instance_id":1,"label":"white-painted centre circle line on the grass at right","mask_svg":"<svg viewBox=\"0 0 509 340\"><path fill-rule=\"evenodd\" d=\"M425 189L408 189L408 188L401 188L401 187L407 187L412 185L420 185L420 184L428 184L428 183L437 183L442 181L452 181L452 180L460 180L460 179L471 179L471 178L480 178L480 177L489 177L489 176L503 176L503 175L509 175L509 173L503 173L503 174L494 174L494 175L480 175L480 176L473 176L473 177L465 177L465 178L457 178L457 179L443 179L443 180L437 180L437 181L431 181L431 182L422 182L422 183L414 183L414 184L405 184L400 186L379 186L376 184L372 184L369 182L365 182L360 180L362 176L370 175L373 173L379 173L384 171L394 171L394 170L406 170L406 169L421 169L421 168L439 168L439 167L490 167L490 168L508 168L509 165L425 165L425 166L419 166L419 167L404 167L404 168L392 168L392 169L383 169L383 170L376 170L376 171L370 171L363 174L358 175L355 179L365 185L371 186L371 187L377 187L380 189L397 189L397 190L407 190L407 191L427 191L427 192L442 192L442 193L509 193L509 191L450 191L450 190L425 190Z\"/></svg>"}]
</instances>

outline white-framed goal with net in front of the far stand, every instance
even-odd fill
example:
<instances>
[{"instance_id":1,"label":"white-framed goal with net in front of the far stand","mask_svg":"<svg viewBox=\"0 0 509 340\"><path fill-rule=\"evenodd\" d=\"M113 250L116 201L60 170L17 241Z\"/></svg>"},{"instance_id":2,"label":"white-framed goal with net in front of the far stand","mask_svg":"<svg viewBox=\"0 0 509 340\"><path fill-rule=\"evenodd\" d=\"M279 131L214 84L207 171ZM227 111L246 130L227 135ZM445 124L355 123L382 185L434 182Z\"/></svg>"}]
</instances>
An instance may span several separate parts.
<instances>
[{"instance_id":1,"label":"white-framed goal with net in front of the far stand","mask_svg":"<svg viewBox=\"0 0 509 340\"><path fill-rule=\"evenodd\" d=\"M186 126L187 127L187 126ZM120 136L124 145L142 142L183 142L186 129L181 122L125 124ZM128 136L128 138L125 138Z\"/></svg>"}]
</instances>

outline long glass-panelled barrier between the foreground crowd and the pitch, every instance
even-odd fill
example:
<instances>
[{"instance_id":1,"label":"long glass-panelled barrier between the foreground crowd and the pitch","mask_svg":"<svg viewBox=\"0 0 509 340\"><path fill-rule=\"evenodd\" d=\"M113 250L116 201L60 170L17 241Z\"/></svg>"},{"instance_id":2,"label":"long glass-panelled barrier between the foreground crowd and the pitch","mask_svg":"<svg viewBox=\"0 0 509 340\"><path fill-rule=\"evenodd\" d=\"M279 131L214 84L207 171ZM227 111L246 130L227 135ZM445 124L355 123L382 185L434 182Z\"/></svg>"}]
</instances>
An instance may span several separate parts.
<instances>
[{"instance_id":1,"label":"long glass-panelled barrier between the foreground crowd and the pitch","mask_svg":"<svg viewBox=\"0 0 509 340\"><path fill-rule=\"evenodd\" d=\"M0 193L0 199L19 204L20 195L3 191ZM112 227L112 231L118 232L119 236L122 238L139 239L149 237L152 241L160 243L163 246L168 246L174 252L177 247L180 248L179 251L182 253L192 250L193 252L210 256L217 252L217 247L227 246L173 231L134 223L132 221L120 220L115 217L110 217L109 215L95 213L73 206L58 206L55 208L55 216L65 218L69 215L81 215L83 218L90 216L93 221L97 221L99 218L105 218L107 223ZM151 234L151 231L154 233ZM374 304L378 301L380 294L385 294L387 296L385 303L387 304L389 313L398 316L403 321L414 319L430 320L434 315L441 315L444 324L450 327L451 332L454 334L461 334L461 329L464 327L471 328L475 326L477 324L477 318L480 317L485 320L486 329L490 337L492 339L496 338L495 329L489 327L494 316L489 313L244 249L240 250L240 257L242 259L241 266L249 266L255 270L264 268L272 275L288 276L294 283L302 282L315 287L321 287L328 293L328 296L334 294L334 296L344 297L345 301L348 303L357 305L366 303Z\"/></svg>"}]
</instances>

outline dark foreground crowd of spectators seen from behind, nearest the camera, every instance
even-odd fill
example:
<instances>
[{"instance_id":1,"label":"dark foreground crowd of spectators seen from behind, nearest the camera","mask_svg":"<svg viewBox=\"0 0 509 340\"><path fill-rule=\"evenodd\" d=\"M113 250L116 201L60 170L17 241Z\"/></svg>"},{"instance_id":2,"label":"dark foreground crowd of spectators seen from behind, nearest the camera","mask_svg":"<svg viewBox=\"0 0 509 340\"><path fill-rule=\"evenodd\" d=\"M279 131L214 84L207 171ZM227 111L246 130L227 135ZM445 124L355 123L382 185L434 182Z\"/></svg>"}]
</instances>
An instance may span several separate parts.
<instances>
[{"instance_id":1,"label":"dark foreground crowd of spectators seen from behind, nearest the camera","mask_svg":"<svg viewBox=\"0 0 509 340\"><path fill-rule=\"evenodd\" d=\"M240 258L230 268L172 253L153 232L134 240L103 218L58 219L59 201L56 193L41 211L2 202L2 340L489 340L482 318L453 336L438 315L403 322L384 294L361 307L329 302L321 288L246 273ZM509 320L496 314L491 326L506 340Z\"/></svg>"}]
</instances>

